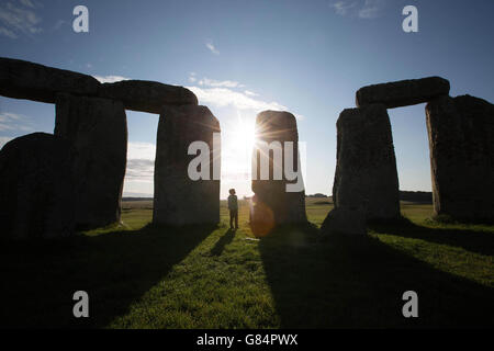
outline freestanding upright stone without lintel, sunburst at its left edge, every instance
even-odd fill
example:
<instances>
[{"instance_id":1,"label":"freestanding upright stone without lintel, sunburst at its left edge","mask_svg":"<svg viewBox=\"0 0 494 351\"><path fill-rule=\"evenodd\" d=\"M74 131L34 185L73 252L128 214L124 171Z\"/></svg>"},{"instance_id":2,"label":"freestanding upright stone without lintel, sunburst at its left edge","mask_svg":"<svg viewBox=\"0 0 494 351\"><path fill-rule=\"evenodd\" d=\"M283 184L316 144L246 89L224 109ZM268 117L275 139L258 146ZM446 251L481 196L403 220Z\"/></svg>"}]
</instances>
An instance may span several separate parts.
<instances>
[{"instance_id":1,"label":"freestanding upright stone without lintel, sunburst at its left edge","mask_svg":"<svg viewBox=\"0 0 494 351\"><path fill-rule=\"evenodd\" d=\"M252 151L252 192L256 194L256 205L269 208L272 212L272 227L291 224L305 223L307 220L305 214L305 191L303 186L301 165L299 159L299 133L296 129L296 120L293 114L280 111L263 111L257 115L256 120L256 143ZM265 141L266 144L262 144ZM274 151L268 148L262 150L262 145L270 146L272 143L279 143L281 148L281 161L273 162ZM296 181L289 180L285 176L284 163L287 146L284 141L293 144L293 167L289 167L294 171L299 170L300 189L299 191L288 191L287 185L294 184ZM269 173L263 179L261 174L262 159L269 165ZM277 179L273 165L280 167L281 177ZM265 211L266 212L266 211ZM256 218L255 215L251 216ZM252 228L256 224L252 223Z\"/></svg>"}]
</instances>

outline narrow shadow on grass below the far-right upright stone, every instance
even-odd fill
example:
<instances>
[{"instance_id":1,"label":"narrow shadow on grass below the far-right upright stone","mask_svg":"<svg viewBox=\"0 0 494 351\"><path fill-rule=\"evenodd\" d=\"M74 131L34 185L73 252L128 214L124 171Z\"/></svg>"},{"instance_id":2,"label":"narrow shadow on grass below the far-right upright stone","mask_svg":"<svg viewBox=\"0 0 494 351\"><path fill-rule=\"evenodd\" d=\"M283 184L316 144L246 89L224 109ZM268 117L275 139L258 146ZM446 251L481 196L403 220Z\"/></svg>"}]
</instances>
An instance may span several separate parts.
<instances>
[{"instance_id":1,"label":"narrow shadow on grass below the far-right upright stone","mask_svg":"<svg viewBox=\"0 0 494 351\"><path fill-rule=\"evenodd\" d=\"M463 248L471 252L494 256L494 235L489 231L422 227L406 218L391 224L374 223L369 228L381 234L445 244Z\"/></svg>"}]
</instances>

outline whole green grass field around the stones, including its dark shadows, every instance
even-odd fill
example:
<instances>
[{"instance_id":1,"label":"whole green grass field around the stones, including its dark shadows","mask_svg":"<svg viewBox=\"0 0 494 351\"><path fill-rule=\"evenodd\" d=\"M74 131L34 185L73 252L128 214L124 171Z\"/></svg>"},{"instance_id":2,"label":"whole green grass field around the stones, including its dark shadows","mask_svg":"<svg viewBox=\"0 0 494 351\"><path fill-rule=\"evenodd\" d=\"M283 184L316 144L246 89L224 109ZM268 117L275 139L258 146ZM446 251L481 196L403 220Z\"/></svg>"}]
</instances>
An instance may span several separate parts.
<instances>
[{"instance_id":1,"label":"whole green grass field around the stones, including its dark shadows","mask_svg":"<svg viewBox=\"0 0 494 351\"><path fill-rule=\"evenodd\" d=\"M494 327L494 226L438 224L431 205L366 238L323 239L332 205L307 200L305 227L258 240L240 229L153 227L150 202L127 202L120 227L69 240L1 246L2 327ZM72 316L87 291L90 318ZM402 294L418 294L418 318Z\"/></svg>"}]
</instances>

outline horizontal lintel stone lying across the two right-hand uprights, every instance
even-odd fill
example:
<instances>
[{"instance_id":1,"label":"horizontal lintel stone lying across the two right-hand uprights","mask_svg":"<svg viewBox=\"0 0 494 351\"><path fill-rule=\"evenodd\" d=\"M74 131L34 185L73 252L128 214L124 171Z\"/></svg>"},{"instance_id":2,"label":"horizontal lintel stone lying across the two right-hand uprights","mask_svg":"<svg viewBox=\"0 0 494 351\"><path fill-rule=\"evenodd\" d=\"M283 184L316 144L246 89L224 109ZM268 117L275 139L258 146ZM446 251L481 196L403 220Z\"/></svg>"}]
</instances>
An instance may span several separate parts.
<instances>
[{"instance_id":1,"label":"horizontal lintel stone lying across the two right-hand uprights","mask_svg":"<svg viewBox=\"0 0 494 351\"><path fill-rule=\"evenodd\" d=\"M358 107L382 103L388 109L428 102L449 94L449 81L440 77L409 79L360 88L356 94Z\"/></svg>"}]
</instances>

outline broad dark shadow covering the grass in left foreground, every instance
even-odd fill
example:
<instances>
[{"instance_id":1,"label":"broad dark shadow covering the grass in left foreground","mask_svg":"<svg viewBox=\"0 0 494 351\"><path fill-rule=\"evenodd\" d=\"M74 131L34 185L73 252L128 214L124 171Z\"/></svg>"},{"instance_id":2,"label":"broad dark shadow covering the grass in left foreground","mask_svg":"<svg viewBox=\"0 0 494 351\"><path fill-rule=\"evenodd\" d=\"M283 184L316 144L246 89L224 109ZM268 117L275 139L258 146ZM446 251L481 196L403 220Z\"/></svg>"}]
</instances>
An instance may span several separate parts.
<instances>
[{"instance_id":1,"label":"broad dark shadow covering the grass in left foreground","mask_svg":"<svg viewBox=\"0 0 494 351\"><path fill-rule=\"evenodd\" d=\"M147 226L98 237L2 242L0 326L105 327L213 230ZM76 291L89 294L89 318L72 315Z\"/></svg>"}]
</instances>

